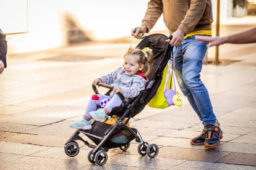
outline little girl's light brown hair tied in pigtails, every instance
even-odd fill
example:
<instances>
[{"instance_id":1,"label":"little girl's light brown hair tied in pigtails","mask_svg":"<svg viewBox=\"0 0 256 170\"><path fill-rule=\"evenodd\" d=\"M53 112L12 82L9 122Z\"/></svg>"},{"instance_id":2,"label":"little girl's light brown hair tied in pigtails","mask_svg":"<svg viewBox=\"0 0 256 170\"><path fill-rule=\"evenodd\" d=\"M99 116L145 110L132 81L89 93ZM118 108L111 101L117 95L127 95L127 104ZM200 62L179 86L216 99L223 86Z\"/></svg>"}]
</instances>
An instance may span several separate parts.
<instances>
[{"instance_id":1,"label":"little girl's light brown hair tied in pigtails","mask_svg":"<svg viewBox=\"0 0 256 170\"><path fill-rule=\"evenodd\" d=\"M126 55L134 55L135 57L137 57L137 62L139 63L139 65L144 65L142 71L145 73L145 76L150 74L154 60L153 54L150 50L147 50L144 53L140 49L129 48L124 57L126 57Z\"/></svg>"}]
</instances>

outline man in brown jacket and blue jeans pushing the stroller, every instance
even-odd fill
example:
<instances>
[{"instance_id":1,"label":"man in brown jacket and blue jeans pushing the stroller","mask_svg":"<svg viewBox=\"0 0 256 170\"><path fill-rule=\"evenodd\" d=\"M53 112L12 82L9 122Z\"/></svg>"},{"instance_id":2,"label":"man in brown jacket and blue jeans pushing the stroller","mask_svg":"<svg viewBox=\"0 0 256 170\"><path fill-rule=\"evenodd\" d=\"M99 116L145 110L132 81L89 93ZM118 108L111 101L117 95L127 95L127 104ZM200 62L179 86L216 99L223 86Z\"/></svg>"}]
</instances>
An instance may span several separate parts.
<instances>
[{"instance_id":1,"label":"man in brown jacket and blue jeans pushing the stroller","mask_svg":"<svg viewBox=\"0 0 256 170\"><path fill-rule=\"evenodd\" d=\"M173 35L167 40L174 46L174 71L181 91L204 125L202 133L190 140L192 145L215 147L220 144L220 129L207 88L200 79L202 60L207 44L195 39L195 35L211 36L213 14L211 0L150 0L142 25L132 36L137 39L148 33L163 14L164 23Z\"/></svg>"}]
</instances>

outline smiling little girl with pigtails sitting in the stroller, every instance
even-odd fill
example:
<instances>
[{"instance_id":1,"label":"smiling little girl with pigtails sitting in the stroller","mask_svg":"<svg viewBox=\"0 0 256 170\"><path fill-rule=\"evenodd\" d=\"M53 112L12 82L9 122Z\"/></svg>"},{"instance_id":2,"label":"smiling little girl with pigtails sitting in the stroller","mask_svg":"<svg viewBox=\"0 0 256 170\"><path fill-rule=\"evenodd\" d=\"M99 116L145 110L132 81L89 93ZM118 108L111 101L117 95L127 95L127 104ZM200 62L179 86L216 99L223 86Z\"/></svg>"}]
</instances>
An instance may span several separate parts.
<instances>
[{"instance_id":1,"label":"smiling little girl with pigtails sitting in the stroller","mask_svg":"<svg viewBox=\"0 0 256 170\"><path fill-rule=\"evenodd\" d=\"M106 76L102 76L99 79L93 81L93 85L97 83L113 84L114 89L110 95L94 94L89 100L83 118L70 123L71 127L76 129L91 129L92 125L90 119L104 122L108 117L108 113L112 111L114 107L122 105L118 92L129 101L129 98L136 97L140 91L145 89L147 83L147 75L151 71L153 63L153 54L151 51L146 51L145 54L140 49L129 49L124 55L123 67L117 68L116 71L109 73ZM100 105L101 100L109 100L104 108L96 110L97 105Z\"/></svg>"}]
</instances>

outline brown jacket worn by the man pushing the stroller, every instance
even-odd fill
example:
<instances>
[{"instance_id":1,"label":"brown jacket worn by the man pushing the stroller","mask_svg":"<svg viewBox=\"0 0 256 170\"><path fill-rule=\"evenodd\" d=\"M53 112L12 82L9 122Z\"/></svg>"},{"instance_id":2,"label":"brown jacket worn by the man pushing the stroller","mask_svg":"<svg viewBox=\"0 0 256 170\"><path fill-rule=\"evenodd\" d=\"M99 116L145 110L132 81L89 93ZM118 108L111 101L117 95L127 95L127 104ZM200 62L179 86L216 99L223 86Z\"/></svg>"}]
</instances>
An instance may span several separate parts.
<instances>
[{"instance_id":1,"label":"brown jacket worn by the man pushing the stroller","mask_svg":"<svg viewBox=\"0 0 256 170\"><path fill-rule=\"evenodd\" d=\"M142 25L147 33L163 13L164 23L173 33L180 28L186 34L200 30L211 30L213 14L211 0L150 0Z\"/></svg>"}]
</instances>

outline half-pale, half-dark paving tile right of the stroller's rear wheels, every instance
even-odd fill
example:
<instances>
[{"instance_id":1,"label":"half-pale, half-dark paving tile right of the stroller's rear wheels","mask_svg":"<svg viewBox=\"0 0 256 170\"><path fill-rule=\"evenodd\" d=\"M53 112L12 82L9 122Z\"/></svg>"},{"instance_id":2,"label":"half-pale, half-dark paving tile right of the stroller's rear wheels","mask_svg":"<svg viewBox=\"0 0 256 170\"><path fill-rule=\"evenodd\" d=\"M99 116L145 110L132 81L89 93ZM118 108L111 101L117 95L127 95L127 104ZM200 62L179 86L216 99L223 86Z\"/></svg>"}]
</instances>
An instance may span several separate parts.
<instances>
[{"instance_id":1,"label":"half-pale, half-dark paving tile right of the stroller's rear wheels","mask_svg":"<svg viewBox=\"0 0 256 170\"><path fill-rule=\"evenodd\" d=\"M178 160L215 162L228 155L229 152L206 151L202 149L162 147L158 153L159 158L172 158Z\"/></svg>"}]
</instances>

